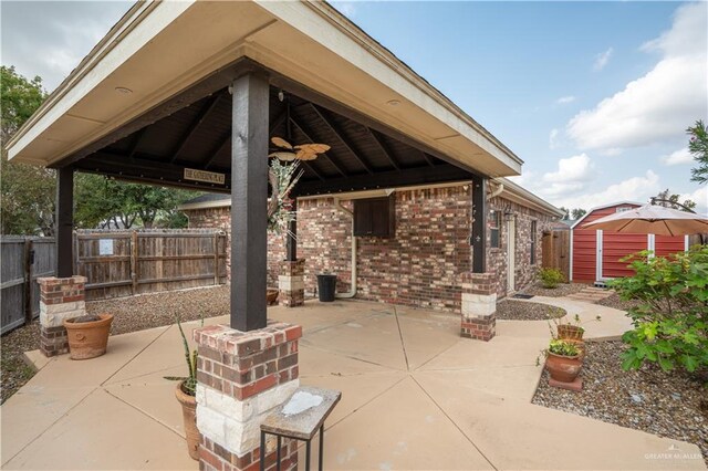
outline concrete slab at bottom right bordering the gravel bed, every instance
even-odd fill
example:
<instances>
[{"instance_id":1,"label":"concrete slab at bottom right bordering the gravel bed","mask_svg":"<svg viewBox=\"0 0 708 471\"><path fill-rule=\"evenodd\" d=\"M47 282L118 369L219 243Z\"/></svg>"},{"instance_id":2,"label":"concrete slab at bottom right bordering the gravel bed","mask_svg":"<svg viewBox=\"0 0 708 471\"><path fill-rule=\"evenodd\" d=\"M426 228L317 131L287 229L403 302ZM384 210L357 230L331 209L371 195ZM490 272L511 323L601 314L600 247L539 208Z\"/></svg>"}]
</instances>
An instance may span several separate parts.
<instances>
[{"instance_id":1,"label":"concrete slab at bottom right bordering the gravel bed","mask_svg":"<svg viewBox=\"0 0 708 471\"><path fill-rule=\"evenodd\" d=\"M698 447L480 393L433 375L418 381L497 469L705 469ZM671 447L689 459L655 459Z\"/></svg>"}]
</instances>

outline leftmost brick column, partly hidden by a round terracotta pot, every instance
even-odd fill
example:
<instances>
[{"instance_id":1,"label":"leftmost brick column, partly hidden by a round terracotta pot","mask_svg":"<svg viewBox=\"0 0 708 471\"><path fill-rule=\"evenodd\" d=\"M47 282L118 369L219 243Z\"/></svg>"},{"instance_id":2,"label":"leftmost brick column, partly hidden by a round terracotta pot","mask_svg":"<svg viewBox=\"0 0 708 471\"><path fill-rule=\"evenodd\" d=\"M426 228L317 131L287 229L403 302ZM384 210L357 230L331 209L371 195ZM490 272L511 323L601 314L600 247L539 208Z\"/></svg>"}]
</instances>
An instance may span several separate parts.
<instances>
[{"instance_id":1,"label":"leftmost brick column, partly hidden by a round terracotta pot","mask_svg":"<svg viewBox=\"0 0 708 471\"><path fill-rule=\"evenodd\" d=\"M85 276L40 278L40 352L44 356L69 353L64 320L86 314Z\"/></svg>"}]
</instances>

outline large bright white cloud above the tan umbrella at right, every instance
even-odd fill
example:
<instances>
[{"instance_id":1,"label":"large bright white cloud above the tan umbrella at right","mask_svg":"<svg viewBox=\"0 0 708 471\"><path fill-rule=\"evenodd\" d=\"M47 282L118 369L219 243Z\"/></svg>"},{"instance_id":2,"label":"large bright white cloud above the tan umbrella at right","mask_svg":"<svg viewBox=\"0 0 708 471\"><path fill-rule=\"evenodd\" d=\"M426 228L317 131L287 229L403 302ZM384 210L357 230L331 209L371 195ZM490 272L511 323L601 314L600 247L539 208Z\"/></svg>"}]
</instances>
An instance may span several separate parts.
<instances>
[{"instance_id":1,"label":"large bright white cloud above the tan umbrella at right","mask_svg":"<svg viewBox=\"0 0 708 471\"><path fill-rule=\"evenodd\" d=\"M618 151L676 140L705 116L707 10L705 2L679 7L671 29L642 46L662 53L654 69L568 123L566 134L581 149Z\"/></svg>"}]
</instances>

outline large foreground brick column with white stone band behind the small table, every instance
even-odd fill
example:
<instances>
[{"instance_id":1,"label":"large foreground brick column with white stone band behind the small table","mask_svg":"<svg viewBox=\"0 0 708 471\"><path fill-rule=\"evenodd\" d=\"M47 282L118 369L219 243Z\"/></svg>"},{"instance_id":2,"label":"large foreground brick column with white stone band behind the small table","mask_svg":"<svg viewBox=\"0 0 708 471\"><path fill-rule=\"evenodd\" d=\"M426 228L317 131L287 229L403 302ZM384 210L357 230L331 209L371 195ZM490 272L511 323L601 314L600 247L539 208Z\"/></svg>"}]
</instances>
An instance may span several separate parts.
<instances>
[{"instance_id":1,"label":"large foreground brick column with white stone band behind the small table","mask_svg":"<svg viewBox=\"0 0 708 471\"><path fill-rule=\"evenodd\" d=\"M195 329L200 470L258 470L262 454L266 469L274 469L277 440L269 436L262 453L260 426L300 386L301 336L302 327L272 321L251 332L225 325ZM282 470L296 468L296 441L282 440L281 458Z\"/></svg>"}]
</instances>

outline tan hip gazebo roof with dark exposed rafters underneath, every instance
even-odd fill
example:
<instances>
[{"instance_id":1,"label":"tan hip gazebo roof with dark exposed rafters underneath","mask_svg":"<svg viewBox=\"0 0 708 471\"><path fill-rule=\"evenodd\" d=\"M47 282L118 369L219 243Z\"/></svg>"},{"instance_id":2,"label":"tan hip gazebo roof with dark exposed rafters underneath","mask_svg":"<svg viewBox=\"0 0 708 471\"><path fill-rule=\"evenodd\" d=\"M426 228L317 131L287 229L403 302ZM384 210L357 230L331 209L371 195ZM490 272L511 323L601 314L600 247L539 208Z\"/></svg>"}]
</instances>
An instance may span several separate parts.
<instances>
[{"instance_id":1,"label":"tan hip gazebo roof with dark exposed rafters underneath","mask_svg":"<svg viewBox=\"0 0 708 471\"><path fill-rule=\"evenodd\" d=\"M9 155L228 192L228 176L222 186L187 181L184 169L230 171L228 85L252 72L271 85L271 136L332 146L304 166L300 195L521 170L503 144L323 2L136 3L8 143Z\"/></svg>"}]
</instances>

